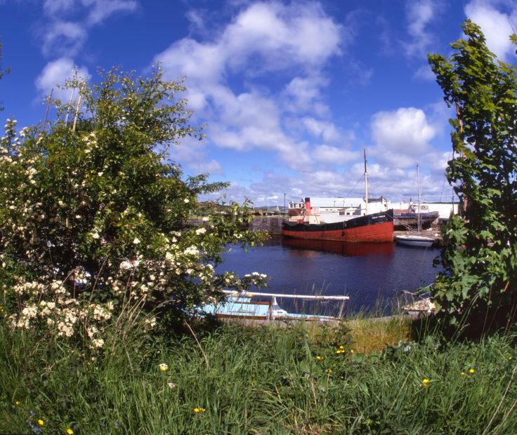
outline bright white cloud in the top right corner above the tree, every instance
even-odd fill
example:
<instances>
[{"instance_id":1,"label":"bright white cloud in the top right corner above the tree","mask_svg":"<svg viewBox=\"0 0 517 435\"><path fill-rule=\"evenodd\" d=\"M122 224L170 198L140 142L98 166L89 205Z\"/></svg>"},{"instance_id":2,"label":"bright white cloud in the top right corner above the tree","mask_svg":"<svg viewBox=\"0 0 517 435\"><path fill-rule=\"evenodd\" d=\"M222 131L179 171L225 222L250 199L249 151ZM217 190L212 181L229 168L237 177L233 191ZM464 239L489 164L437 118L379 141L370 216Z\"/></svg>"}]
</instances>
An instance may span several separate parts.
<instances>
[{"instance_id":1,"label":"bright white cloud in the top right corner above the tree","mask_svg":"<svg viewBox=\"0 0 517 435\"><path fill-rule=\"evenodd\" d=\"M509 36L513 33L510 22L517 22L517 4L508 13L499 11L496 6L501 2L473 0L465 6L465 15L480 25L487 39L487 46L500 60L515 58L515 46Z\"/></svg>"}]
</instances>

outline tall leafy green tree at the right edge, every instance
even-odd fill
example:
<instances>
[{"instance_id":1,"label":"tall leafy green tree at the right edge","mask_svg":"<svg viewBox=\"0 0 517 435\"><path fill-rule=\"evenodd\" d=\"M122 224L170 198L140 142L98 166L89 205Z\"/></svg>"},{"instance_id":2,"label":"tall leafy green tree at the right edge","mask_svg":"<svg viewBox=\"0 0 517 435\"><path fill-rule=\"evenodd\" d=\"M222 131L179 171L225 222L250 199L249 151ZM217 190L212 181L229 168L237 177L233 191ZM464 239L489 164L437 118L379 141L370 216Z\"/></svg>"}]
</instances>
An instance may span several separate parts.
<instances>
[{"instance_id":1,"label":"tall leafy green tree at the right edge","mask_svg":"<svg viewBox=\"0 0 517 435\"><path fill-rule=\"evenodd\" d=\"M506 322L517 309L517 71L490 53L478 25L462 27L466 39L451 44L448 60L428 57L457 113L447 180L466 205L443 232L433 296L452 323L481 315Z\"/></svg>"}]
</instances>

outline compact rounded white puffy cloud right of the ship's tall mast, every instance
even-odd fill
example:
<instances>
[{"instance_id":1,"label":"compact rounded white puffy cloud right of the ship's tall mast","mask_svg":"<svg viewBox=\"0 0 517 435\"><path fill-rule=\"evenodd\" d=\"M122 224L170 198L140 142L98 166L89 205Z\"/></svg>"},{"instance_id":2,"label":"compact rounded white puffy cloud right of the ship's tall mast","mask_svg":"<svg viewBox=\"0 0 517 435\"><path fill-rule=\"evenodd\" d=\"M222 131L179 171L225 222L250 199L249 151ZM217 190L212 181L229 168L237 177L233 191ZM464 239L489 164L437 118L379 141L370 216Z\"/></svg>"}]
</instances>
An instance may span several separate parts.
<instances>
[{"instance_id":1,"label":"compact rounded white puffy cloud right of the ship's tall mast","mask_svg":"<svg viewBox=\"0 0 517 435\"><path fill-rule=\"evenodd\" d=\"M375 159L391 168L407 168L428 159L429 141L436 135L424 111L415 107L377 112L371 128Z\"/></svg>"}]
</instances>

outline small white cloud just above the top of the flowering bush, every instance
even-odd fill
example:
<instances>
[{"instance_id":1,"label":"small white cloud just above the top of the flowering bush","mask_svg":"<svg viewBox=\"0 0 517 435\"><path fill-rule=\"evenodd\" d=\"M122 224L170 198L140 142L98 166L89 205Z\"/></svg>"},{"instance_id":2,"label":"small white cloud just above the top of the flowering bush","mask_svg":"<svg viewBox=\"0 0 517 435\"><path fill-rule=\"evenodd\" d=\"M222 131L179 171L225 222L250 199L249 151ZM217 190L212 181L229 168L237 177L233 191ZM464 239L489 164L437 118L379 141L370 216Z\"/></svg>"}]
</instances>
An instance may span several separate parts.
<instances>
[{"instance_id":1,"label":"small white cloud just above the top of the flowering bush","mask_svg":"<svg viewBox=\"0 0 517 435\"><path fill-rule=\"evenodd\" d=\"M53 62L48 62L36 79L36 88L39 94L41 96L50 95L53 89L53 98L68 102L72 91L70 89L60 89L57 85L63 85L67 79L72 79L76 71L78 76L85 81L90 78L88 69L77 67L70 58L59 58Z\"/></svg>"}]
</instances>

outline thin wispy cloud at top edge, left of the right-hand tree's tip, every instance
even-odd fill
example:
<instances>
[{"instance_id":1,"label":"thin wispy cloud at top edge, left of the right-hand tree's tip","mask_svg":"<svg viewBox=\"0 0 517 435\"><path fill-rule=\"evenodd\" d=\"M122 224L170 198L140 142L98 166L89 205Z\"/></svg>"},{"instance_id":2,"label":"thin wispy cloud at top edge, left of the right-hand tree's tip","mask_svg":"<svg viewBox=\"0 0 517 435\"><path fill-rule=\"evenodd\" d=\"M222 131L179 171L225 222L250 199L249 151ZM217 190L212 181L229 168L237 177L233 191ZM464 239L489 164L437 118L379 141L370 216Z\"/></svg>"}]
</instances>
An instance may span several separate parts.
<instances>
[{"instance_id":1,"label":"thin wispy cloud at top edge, left of the right-hand tree's tip","mask_svg":"<svg viewBox=\"0 0 517 435\"><path fill-rule=\"evenodd\" d=\"M440 1L416 0L408 1L406 8L407 32L411 40L404 44L407 55L424 54L433 43L434 36L427 27L436 18Z\"/></svg>"}]
</instances>

